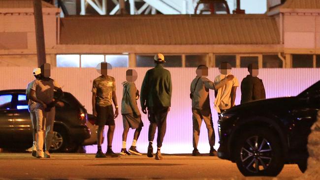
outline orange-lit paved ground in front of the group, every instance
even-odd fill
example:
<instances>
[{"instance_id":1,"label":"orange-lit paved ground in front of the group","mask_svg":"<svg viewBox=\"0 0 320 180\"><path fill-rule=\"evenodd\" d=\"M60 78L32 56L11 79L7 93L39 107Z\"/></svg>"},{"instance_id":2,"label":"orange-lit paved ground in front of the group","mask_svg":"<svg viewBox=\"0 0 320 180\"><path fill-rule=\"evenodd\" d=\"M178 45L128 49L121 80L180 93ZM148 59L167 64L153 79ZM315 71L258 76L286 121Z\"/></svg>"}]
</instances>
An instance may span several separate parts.
<instances>
[{"instance_id":1,"label":"orange-lit paved ground in front of the group","mask_svg":"<svg viewBox=\"0 0 320 180\"><path fill-rule=\"evenodd\" d=\"M163 160L142 156L96 159L94 154L54 153L37 159L29 153L0 153L0 179L214 179L274 180L245 178L236 164L218 157L164 155ZM285 165L279 180L301 176L297 165Z\"/></svg>"}]
</instances>

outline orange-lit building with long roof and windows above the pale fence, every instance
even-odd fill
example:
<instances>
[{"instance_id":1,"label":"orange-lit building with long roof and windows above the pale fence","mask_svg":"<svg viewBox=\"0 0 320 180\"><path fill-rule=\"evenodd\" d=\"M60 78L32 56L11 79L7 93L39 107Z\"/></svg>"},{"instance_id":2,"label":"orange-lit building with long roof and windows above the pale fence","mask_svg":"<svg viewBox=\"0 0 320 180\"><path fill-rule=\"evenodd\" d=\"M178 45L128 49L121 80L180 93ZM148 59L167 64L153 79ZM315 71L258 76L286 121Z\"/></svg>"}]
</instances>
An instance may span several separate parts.
<instances>
[{"instance_id":1,"label":"orange-lit building with long roof and windows above the pale fence","mask_svg":"<svg viewBox=\"0 0 320 180\"><path fill-rule=\"evenodd\" d=\"M159 3L153 5L155 1ZM160 1L176 12L164 6L170 12L162 11ZM99 14L116 14L123 6L115 1L119 7L110 12L103 9L107 2L81 0L85 8L80 14L94 4ZM268 0L265 14L196 15L196 2L128 0L134 4L128 14L63 18L61 8L43 2L47 62L57 67L95 67L100 61L149 67L152 56L161 52L169 67L217 67L222 61L233 67L252 62L260 68L320 67L319 0ZM0 66L37 66L32 0L0 0Z\"/></svg>"}]
</instances>

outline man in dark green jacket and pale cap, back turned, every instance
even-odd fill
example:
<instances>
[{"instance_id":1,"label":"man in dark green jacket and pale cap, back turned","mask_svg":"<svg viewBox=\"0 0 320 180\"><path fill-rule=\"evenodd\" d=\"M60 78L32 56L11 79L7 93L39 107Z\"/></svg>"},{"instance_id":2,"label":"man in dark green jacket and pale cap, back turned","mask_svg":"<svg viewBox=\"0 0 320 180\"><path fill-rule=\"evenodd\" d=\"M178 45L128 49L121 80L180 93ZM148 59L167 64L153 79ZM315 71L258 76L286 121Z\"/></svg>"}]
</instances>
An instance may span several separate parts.
<instances>
[{"instance_id":1,"label":"man in dark green jacket and pale cap, back turned","mask_svg":"<svg viewBox=\"0 0 320 180\"><path fill-rule=\"evenodd\" d=\"M150 121L147 156L153 157L152 143L158 127L156 159L160 160L162 159L160 149L166 130L166 118L171 106L172 83L170 72L162 65L165 62L164 56L157 54L154 59L156 67L147 71L142 83L140 104L144 114L147 114L148 108Z\"/></svg>"}]
</instances>

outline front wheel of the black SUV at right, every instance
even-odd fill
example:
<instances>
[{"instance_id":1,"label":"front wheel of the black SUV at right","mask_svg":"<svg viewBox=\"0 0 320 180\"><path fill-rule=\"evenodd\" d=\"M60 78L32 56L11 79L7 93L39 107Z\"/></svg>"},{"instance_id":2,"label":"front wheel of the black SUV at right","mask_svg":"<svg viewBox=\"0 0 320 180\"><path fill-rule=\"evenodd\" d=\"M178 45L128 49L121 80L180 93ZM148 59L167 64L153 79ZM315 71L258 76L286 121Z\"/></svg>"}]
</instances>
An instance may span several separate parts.
<instances>
[{"instance_id":1,"label":"front wheel of the black SUV at right","mask_svg":"<svg viewBox=\"0 0 320 180\"><path fill-rule=\"evenodd\" d=\"M244 176L277 176L284 167L279 138L267 128L252 128L240 134L235 160Z\"/></svg>"}]
</instances>

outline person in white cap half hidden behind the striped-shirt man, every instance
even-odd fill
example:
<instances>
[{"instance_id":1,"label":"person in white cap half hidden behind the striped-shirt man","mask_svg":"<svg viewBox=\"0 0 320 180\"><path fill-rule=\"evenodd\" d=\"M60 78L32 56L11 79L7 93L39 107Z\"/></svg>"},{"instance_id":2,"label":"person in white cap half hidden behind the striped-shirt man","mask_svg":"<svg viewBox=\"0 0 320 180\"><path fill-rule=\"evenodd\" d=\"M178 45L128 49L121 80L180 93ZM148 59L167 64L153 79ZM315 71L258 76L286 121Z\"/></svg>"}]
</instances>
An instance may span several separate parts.
<instances>
[{"instance_id":1,"label":"person in white cap half hidden behind the striped-shirt man","mask_svg":"<svg viewBox=\"0 0 320 180\"><path fill-rule=\"evenodd\" d=\"M33 76L35 77L35 79L39 79L40 78L40 74L41 74L41 69L40 68L34 68L32 73L33 73ZM30 95L31 85L32 85L32 82L28 84L28 87L27 87L27 90L26 90L27 97L29 97L29 95ZM36 117L35 117L35 111L34 111L35 110L35 105L36 105L36 102L34 102L31 99L29 99L29 101L28 101L28 110L30 112L30 118L31 118L31 122L32 122L32 139L33 139L32 156L34 156L34 157L36 156Z\"/></svg>"}]
</instances>

